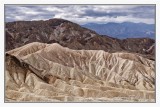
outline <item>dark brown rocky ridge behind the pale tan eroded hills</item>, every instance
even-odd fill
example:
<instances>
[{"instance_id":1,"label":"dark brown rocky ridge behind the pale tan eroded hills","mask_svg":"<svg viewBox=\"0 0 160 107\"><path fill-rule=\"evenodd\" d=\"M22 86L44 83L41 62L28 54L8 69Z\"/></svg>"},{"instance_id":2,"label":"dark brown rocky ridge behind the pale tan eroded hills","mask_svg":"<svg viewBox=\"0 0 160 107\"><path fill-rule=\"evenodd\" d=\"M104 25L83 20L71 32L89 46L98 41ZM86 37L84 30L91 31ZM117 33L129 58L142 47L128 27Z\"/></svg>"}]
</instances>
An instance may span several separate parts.
<instances>
[{"instance_id":1,"label":"dark brown rocky ridge behind the pale tan eroded hills","mask_svg":"<svg viewBox=\"0 0 160 107\"><path fill-rule=\"evenodd\" d=\"M6 23L6 50L32 42L59 43L75 50L104 50L106 52L139 53L154 60L147 50L155 43L149 38L116 39L102 36L80 25L64 20L17 21Z\"/></svg>"}]
</instances>

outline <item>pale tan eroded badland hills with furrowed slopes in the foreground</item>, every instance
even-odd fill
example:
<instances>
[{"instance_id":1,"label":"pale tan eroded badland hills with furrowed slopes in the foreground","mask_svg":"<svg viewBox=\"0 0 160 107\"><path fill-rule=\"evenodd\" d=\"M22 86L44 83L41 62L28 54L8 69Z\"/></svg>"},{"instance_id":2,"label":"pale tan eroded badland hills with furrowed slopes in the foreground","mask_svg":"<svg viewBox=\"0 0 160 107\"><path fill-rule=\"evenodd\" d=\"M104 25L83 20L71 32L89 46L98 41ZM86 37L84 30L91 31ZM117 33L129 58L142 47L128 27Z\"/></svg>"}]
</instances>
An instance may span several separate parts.
<instances>
[{"instance_id":1,"label":"pale tan eroded badland hills with furrowed slopes in the foreground","mask_svg":"<svg viewBox=\"0 0 160 107\"><path fill-rule=\"evenodd\" d=\"M155 101L155 61L33 42L6 52L7 101Z\"/></svg>"}]
</instances>

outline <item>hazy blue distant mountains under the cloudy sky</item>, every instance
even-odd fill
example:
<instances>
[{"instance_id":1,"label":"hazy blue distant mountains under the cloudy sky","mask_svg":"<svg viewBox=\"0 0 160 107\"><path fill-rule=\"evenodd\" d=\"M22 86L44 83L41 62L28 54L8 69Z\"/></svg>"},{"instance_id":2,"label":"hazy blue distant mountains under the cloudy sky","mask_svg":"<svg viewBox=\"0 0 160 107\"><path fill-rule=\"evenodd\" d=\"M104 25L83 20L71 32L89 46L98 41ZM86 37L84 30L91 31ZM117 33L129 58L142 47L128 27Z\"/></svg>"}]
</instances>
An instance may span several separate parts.
<instances>
[{"instance_id":1,"label":"hazy blue distant mountains under the cloudy sky","mask_svg":"<svg viewBox=\"0 0 160 107\"><path fill-rule=\"evenodd\" d=\"M82 25L96 31L100 35L109 35L119 39L148 37L155 39L155 25L145 23L114 23L106 24L87 23Z\"/></svg>"}]
</instances>

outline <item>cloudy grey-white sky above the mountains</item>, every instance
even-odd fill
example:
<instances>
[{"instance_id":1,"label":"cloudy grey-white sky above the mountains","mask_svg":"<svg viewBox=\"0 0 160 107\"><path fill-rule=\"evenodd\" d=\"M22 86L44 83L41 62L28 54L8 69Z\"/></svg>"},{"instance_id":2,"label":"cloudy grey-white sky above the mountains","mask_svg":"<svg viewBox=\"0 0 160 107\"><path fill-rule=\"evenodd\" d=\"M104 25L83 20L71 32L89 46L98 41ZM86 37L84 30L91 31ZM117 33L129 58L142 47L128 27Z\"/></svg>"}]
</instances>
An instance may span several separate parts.
<instances>
[{"instance_id":1,"label":"cloudy grey-white sky above the mountains","mask_svg":"<svg viewBox=\"0 0 160 107\"><path fill-rule=\"evenodd\" d=\"M154 5L5 5L5 21L62 18L78 24L155 23Z\"/></svg>"}]
</instances>

